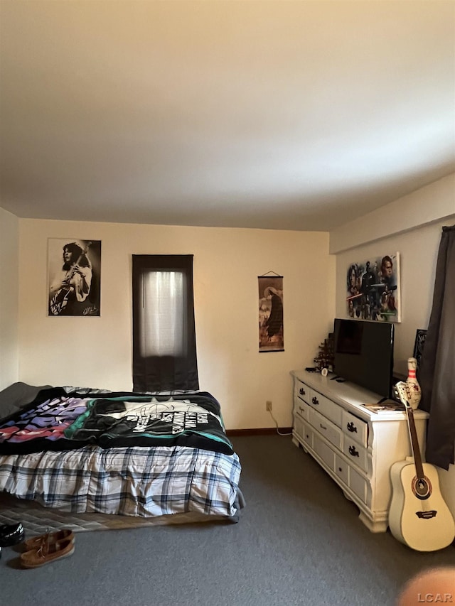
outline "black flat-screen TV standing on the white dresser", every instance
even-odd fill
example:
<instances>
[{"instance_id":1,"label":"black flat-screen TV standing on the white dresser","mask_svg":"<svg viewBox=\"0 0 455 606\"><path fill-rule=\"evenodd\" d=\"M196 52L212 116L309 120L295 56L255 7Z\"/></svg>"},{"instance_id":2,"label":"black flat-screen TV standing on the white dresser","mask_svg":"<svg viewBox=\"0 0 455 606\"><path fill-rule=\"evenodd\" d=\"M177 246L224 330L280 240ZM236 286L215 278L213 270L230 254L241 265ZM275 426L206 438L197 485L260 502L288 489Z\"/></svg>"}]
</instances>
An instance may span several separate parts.
<instances>
[{"instance_id":1,"label":"black flat-screen TV standing on the white dresser","mask_svg":"<svg viewBox=\"0 0 455 606\"><path fill-rule=\"evenodd\" d=\"M335 318L333 372L382 398L392 396L394 325Z\"/></svg>"}]
</instances>

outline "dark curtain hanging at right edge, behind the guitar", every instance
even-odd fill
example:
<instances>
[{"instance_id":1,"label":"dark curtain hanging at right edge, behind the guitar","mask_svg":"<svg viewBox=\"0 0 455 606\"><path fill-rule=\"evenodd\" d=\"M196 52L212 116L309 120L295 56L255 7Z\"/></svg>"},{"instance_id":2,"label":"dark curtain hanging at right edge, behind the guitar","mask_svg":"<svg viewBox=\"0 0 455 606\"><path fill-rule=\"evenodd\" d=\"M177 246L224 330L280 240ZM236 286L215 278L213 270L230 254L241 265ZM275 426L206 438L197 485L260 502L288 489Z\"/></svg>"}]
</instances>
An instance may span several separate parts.
<instances>
[{"instance_id":1,"label":"dark curtain hanging at right edge, behind the guitar","mask_svg":"<svg viewBox=\"0 0 455 606\"><path fill-rule=\"evenodd\" d=\"M420 408L429 413L426 460L448 470L455 443L455 225L442 228L420 364Z\"/></svg>"}]
</instances>

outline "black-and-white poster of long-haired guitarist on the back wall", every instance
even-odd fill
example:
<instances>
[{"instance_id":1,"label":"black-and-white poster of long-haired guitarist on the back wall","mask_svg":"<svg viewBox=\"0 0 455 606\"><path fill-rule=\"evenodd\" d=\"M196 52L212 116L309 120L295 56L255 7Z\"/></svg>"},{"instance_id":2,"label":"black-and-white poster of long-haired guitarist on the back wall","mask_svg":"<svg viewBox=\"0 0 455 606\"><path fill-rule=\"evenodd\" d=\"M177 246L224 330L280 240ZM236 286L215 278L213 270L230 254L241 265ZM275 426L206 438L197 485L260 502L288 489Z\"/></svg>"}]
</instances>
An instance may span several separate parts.
<instances>
[{"instance_id":1,"label":"black-and-white poster of long-haired guitarist on the back wall","mask_svg":"<svg viewBox=\"0 0 455 606\"><path fill-rule=\"evenodd\" d=\"M100 315L101 241L49 238L48 315Z\"/></svg>"}]
</instances>

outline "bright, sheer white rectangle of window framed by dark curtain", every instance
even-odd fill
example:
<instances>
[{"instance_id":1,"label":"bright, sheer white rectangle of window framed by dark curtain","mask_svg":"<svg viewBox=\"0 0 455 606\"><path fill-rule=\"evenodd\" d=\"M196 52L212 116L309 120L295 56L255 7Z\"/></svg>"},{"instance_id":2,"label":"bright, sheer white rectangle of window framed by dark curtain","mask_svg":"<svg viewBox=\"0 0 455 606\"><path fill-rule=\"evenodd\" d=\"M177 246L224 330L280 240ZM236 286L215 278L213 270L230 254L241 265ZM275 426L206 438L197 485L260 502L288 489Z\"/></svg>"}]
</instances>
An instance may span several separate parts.
<instances>
[{"instance_id":1,"label":"bright, sheer white rectangle of window framed by dark curtain","mask_svg":"<svg viewBox=\"0 0 455 606\"><path fill-rule=\"evenodd\" d=\"M185 352L186 280L182 271L148 271L142 276L141 356Z\"/></svg>"}]
</instances>

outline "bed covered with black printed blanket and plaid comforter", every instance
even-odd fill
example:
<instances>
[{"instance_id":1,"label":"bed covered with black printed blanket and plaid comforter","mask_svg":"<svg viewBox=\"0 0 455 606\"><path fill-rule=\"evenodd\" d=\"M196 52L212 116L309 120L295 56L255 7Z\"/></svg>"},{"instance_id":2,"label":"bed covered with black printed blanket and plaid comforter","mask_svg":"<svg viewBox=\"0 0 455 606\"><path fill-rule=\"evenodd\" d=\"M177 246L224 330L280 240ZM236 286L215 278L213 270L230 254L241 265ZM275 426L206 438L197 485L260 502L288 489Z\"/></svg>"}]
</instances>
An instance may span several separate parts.
<instances>
[{"instance_id":1,"label":"bed covered with black printed blanket and plaid comforter","mask_svg":"<svg viewBox=\"0 0 455 606\"><path fill-rule=\"evenodd\" d=\"M17 383L0 392L0 494L77 514L238 521L240 460L206 391Z\"/></svg>"}]
</instances>

